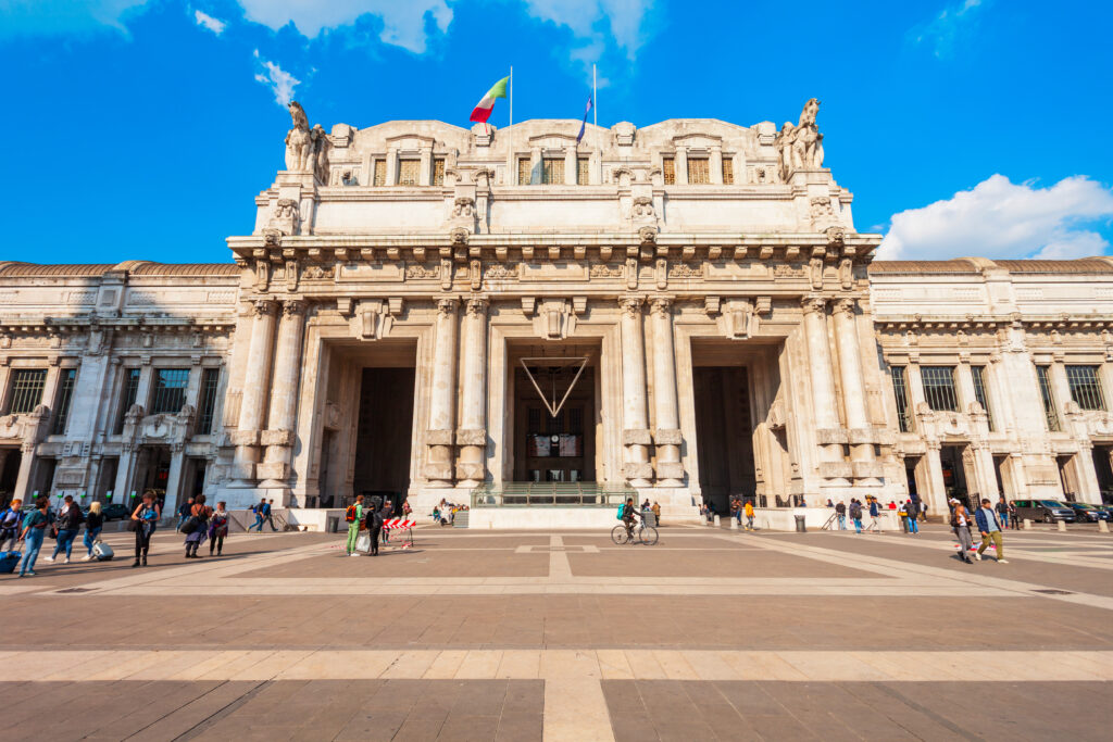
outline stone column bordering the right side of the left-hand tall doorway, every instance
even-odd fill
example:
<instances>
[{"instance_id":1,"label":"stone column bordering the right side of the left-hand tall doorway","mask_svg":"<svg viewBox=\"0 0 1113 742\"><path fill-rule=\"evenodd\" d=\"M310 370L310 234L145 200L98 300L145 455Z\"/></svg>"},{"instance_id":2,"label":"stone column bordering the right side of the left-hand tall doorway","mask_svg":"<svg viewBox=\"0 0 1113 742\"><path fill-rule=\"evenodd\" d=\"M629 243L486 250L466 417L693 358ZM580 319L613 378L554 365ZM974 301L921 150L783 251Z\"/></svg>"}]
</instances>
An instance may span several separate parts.
<instances>
[{"instance_id":1,"label":"stone column bordering the right side of the left-hand tall doorway","mask_svg":"<svg viewBox=\"0 0 1113 742\"><path fill-rule=\"evenodd\" d=\"M456 304L455 298L436 303L436 339L433 346L433 384L430 389L429 458L425 476L431 487L453 485L452 452L456 417Z\"/></svg>"}]
</instances>

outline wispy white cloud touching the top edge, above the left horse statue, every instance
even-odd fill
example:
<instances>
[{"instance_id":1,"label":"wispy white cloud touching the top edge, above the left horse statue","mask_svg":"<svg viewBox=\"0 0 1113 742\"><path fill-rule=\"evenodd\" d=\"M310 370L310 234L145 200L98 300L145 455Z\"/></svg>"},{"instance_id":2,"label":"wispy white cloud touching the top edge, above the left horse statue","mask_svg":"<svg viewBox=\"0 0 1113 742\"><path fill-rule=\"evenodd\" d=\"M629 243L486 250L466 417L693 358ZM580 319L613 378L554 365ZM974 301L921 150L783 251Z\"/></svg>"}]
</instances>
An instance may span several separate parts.
<instances>
[{"instance_id":1,"label":"wispy white cloud touching the top edge, above the left horse statue","mask_svg":"<svg viewBox=\"0 0 1113 742\"><path fill-rule=\"evenodd\" d=\"M305 37L316 38L324 29L355 22L366 13L383 22L380 39L384 43L425 51L425 14L443 33L452 22L452 9L445 0L239 0L247 19L277 31L290 21Z\"/></svg>"}]
</instances>

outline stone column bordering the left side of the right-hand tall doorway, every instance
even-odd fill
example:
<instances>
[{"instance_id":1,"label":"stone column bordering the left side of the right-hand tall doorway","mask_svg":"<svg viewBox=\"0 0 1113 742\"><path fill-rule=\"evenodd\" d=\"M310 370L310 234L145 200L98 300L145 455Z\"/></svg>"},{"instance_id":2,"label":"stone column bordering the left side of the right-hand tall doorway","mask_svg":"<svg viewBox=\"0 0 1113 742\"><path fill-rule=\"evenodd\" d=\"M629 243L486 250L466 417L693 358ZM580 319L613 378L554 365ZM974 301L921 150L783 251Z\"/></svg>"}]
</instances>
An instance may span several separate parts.
<instances>
[{"instance_id":1,"label":"stone column bordering the left side of the right-hand tall doorway","mask_svg":"<svg viewBox=\"0 0 1113 742\"><path fill-rule=\"evenodd\" d=\"M672 299L657 297L650 307L653 318L653 407L657 413L657 484L683 485L680 462L680 412L677 406L677 367L672 350Z\"/></svg>"}]
</instances>

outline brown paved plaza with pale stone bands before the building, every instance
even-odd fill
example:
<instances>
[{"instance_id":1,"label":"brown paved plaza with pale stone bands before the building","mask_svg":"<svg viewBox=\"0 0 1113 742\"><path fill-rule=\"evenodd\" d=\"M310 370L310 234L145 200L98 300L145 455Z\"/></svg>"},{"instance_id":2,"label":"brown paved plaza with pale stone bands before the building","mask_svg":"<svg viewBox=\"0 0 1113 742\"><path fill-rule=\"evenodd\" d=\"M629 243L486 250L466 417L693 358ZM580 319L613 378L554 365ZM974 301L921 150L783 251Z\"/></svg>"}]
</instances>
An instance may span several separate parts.
<instances>
[{"instance_id":1,"label":"brown paved plaza with pale stone bands before the building","mask_svg":"<svg viewBox=\"0 0 1113 742\"><path fill-rule=\"evenodd\" d=\"M0 577L0 739L1107 740L1113 536L234 534ZM48 542L49 543L49 542ZM75 552L77 553L77 552ZM201 547L207 553L207 547Z\"/></svg>"}]
</instances>

